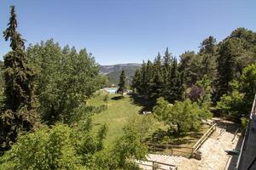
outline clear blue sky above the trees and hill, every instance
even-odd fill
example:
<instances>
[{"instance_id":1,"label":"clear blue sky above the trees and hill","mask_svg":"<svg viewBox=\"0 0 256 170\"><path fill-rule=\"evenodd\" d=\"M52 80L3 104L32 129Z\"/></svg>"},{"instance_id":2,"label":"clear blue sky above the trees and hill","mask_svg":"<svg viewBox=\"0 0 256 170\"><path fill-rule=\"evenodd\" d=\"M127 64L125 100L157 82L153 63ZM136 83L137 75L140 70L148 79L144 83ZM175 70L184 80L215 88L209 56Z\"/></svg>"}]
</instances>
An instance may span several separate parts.
<instances>
[{"instance_id":1,"label":"clear blue sky above the trees and hill","mask_svg":"<svg viewBox=\"0 0 256 170\"><path fill-rule=\"evenodd\" d=\"M142 63L168 47L179 56L237 27L256 31L255 0L1 0L0 31L15 4L28 43L49 38L86 48L102 65ZM9 42L0 38L0 59Z\"/></svg>"}]
</instances>

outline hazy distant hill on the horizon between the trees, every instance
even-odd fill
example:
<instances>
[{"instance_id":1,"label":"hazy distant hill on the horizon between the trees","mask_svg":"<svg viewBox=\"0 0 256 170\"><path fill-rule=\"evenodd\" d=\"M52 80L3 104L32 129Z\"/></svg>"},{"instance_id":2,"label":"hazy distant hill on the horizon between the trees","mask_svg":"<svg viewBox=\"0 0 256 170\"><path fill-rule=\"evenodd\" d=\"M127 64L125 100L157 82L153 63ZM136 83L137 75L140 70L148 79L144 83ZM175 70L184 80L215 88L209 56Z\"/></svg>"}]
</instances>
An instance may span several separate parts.
<instances>
[{"instance_id":1,"label":"hazy distant hill on the horizon between the trees","mask_svg":"<svg viewBox=\"0 0 256 170\"><path fill-rule=\"evenodd\" d=\"M140 67L140 64L137 63L128 63L128 64L119 64L119 65L101 65L101 73L108 77L109 84L118 85L119 76L121 71L125 69L126 82L131 82L131 76L134 75L137 68Z\"/></svg>"}]
</instances>

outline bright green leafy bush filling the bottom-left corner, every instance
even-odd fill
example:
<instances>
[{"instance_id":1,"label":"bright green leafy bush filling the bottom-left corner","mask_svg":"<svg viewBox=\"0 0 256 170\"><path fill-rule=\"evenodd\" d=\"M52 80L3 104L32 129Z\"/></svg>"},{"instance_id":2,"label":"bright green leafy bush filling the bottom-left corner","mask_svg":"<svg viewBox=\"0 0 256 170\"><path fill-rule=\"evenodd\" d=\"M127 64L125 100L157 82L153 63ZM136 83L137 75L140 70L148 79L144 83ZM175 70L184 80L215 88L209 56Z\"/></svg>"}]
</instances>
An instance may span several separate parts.
<instances>
[{"instance_id":1,"label":"bright green leafy bush filling the bottom-left corner","mask_svg":"<svg viewBox=\"0 0 256 170\"><path fill-rule=\"evenodd\" d=\"M0 169L84 169L73 146L71 129L58 124L21 135L0 158Z\"/></svg>"}]
</instances>

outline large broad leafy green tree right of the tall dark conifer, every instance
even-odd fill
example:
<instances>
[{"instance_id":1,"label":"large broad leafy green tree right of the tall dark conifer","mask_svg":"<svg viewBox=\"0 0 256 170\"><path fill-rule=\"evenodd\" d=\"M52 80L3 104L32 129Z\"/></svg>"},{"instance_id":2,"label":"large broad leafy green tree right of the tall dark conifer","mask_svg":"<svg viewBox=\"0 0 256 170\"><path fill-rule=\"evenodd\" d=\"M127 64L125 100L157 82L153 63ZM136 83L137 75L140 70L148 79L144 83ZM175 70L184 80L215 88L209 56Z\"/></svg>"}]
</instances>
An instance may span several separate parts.
<instances>
[{"instance_id":1,"label":"large broad leafy green tree right of the tall dark conifer","mask_svg":"<svg viewBox=\"0 0 256 170\"><path fill-rule=\"evenodd\" d=\"M39 113L48 124L79 119L85 99L101 86L99 67L85 49L62 48L53 40L31 45L26 54L38 69Z\"/></svg>"}]
</instances>

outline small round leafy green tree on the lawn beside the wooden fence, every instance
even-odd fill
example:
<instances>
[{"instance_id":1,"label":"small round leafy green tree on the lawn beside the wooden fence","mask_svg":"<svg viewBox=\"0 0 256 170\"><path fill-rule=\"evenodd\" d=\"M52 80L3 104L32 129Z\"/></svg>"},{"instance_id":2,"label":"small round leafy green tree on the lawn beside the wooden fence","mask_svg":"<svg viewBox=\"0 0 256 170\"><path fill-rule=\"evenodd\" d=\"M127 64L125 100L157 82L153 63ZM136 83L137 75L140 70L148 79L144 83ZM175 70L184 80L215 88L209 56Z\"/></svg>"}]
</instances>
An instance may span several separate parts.
<instances>
[{"instance_id":1,"label":"small round leafy green tree on the lawn beside the wooden fence","mask_svg":"<svg viewBox=\"0 0 256 170\"><path fill-rule=\"evenodd\" d=\"M189 99L169 104L164 98L157 99L154 106L154 116L166 123L170 129L176 129L177 134L197 130L203 119L211 117L207 108L192 103Z\"/></svg>"}]
</instances>

